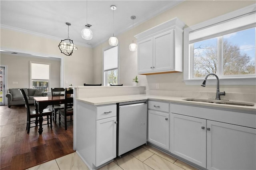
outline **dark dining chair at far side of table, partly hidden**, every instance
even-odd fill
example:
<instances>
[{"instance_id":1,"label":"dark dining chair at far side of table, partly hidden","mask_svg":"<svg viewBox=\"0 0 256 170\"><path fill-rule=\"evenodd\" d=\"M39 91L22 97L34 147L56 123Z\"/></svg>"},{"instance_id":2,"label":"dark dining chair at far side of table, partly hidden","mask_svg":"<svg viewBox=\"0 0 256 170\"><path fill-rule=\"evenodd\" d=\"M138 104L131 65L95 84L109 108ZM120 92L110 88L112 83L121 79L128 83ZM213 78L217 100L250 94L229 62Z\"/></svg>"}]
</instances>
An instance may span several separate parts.
<instances>
[{"instance_id":1,"label":"dark dining chair at far side of table, partly hidden","mask_svg":"<svg viewBox=\"0 0 256 170\"><path fill-rule=\"evenodd\" d=\"M65 89L64 88L51 88L52 96L64 96ZM57 123L57 115L60 109L64 109L64 105L52 105L52 118L55 123Z\"/></svg>"}]
</instances>

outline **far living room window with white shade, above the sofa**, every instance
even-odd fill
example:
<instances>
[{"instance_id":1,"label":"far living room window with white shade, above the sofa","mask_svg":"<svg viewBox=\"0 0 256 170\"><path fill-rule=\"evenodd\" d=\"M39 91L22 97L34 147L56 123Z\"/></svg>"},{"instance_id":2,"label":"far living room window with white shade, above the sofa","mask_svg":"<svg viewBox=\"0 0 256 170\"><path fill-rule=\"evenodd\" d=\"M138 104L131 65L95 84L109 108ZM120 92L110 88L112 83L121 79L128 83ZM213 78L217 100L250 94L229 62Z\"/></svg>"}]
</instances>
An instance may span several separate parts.
<instances>
[{"instance_id":1,"label":"far living room window with white shade, above the sofa","mask_svg":"<svg viewBox=\"0 0 256 170\"><path fill-rule=\"evenodd\" d=\"M30 88L49 91L50 63L30 61Z\"/></svg>"}]
</instances>

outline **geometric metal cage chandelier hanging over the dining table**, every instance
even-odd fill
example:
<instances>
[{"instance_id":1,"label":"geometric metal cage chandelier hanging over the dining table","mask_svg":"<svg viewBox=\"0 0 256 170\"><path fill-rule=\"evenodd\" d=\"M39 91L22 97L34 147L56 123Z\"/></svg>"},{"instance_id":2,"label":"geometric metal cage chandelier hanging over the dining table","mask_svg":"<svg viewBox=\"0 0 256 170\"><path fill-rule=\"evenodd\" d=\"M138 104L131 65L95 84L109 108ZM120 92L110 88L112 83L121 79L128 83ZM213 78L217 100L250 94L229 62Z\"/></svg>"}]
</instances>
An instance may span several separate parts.
<instances>
[{"instance_id":1,"label":"geometric metal cage chandelier hanging over the dining table","mask_svg":"<svg viewBox=\"0 0 256 170\"><path fill-rule=\"evenodd\" d=\"M72 55L73 51L77 50L77 47L74 45L73 40L69 39L69 26L71 26L71 24L66 22L66 25L68 26L68 39L61 40L58 47L60 48L61 53Z\"/></svg>"}]
</instances>

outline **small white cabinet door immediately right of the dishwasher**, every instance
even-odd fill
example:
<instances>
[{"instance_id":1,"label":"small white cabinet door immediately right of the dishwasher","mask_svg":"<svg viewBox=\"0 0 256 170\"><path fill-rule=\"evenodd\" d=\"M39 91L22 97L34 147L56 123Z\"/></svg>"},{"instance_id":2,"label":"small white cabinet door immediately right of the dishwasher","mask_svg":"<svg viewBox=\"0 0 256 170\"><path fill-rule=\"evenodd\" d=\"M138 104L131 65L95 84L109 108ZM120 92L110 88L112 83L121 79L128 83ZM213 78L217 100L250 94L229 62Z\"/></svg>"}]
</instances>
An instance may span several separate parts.
<instances>
[{"instance_id":1,"label":"small white cabinet door immediately right of the dishwasher","mask_svg":"<svg viewBox=\"0 0 256 170\"><path fill-rule=\"evenodd\" d=\"M169 113L148 110L148 141L169 150Z\"/></svg>"}]
</instances>

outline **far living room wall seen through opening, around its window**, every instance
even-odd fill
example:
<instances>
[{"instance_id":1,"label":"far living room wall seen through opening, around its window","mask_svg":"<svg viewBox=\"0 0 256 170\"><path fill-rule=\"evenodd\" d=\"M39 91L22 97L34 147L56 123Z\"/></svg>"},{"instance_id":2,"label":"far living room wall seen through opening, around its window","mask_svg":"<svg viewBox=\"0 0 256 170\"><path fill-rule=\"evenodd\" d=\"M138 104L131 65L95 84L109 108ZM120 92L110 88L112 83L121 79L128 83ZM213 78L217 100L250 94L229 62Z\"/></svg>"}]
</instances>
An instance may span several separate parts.
<instances>
[{"instance_id":1,"label":"far living room wall seen through opening, around its window","mask_svg":"<svg viewBox=\"0 0 256 170\"><path fill-rule=\"evenodd\" d=\"M29 61L50 63L50 87L60 87L60 59L44 59L1 54L1 65L7 65L7 88L29 87ZM18 82L18 84L13 84Z\"/></svg>"}]
</instances>

